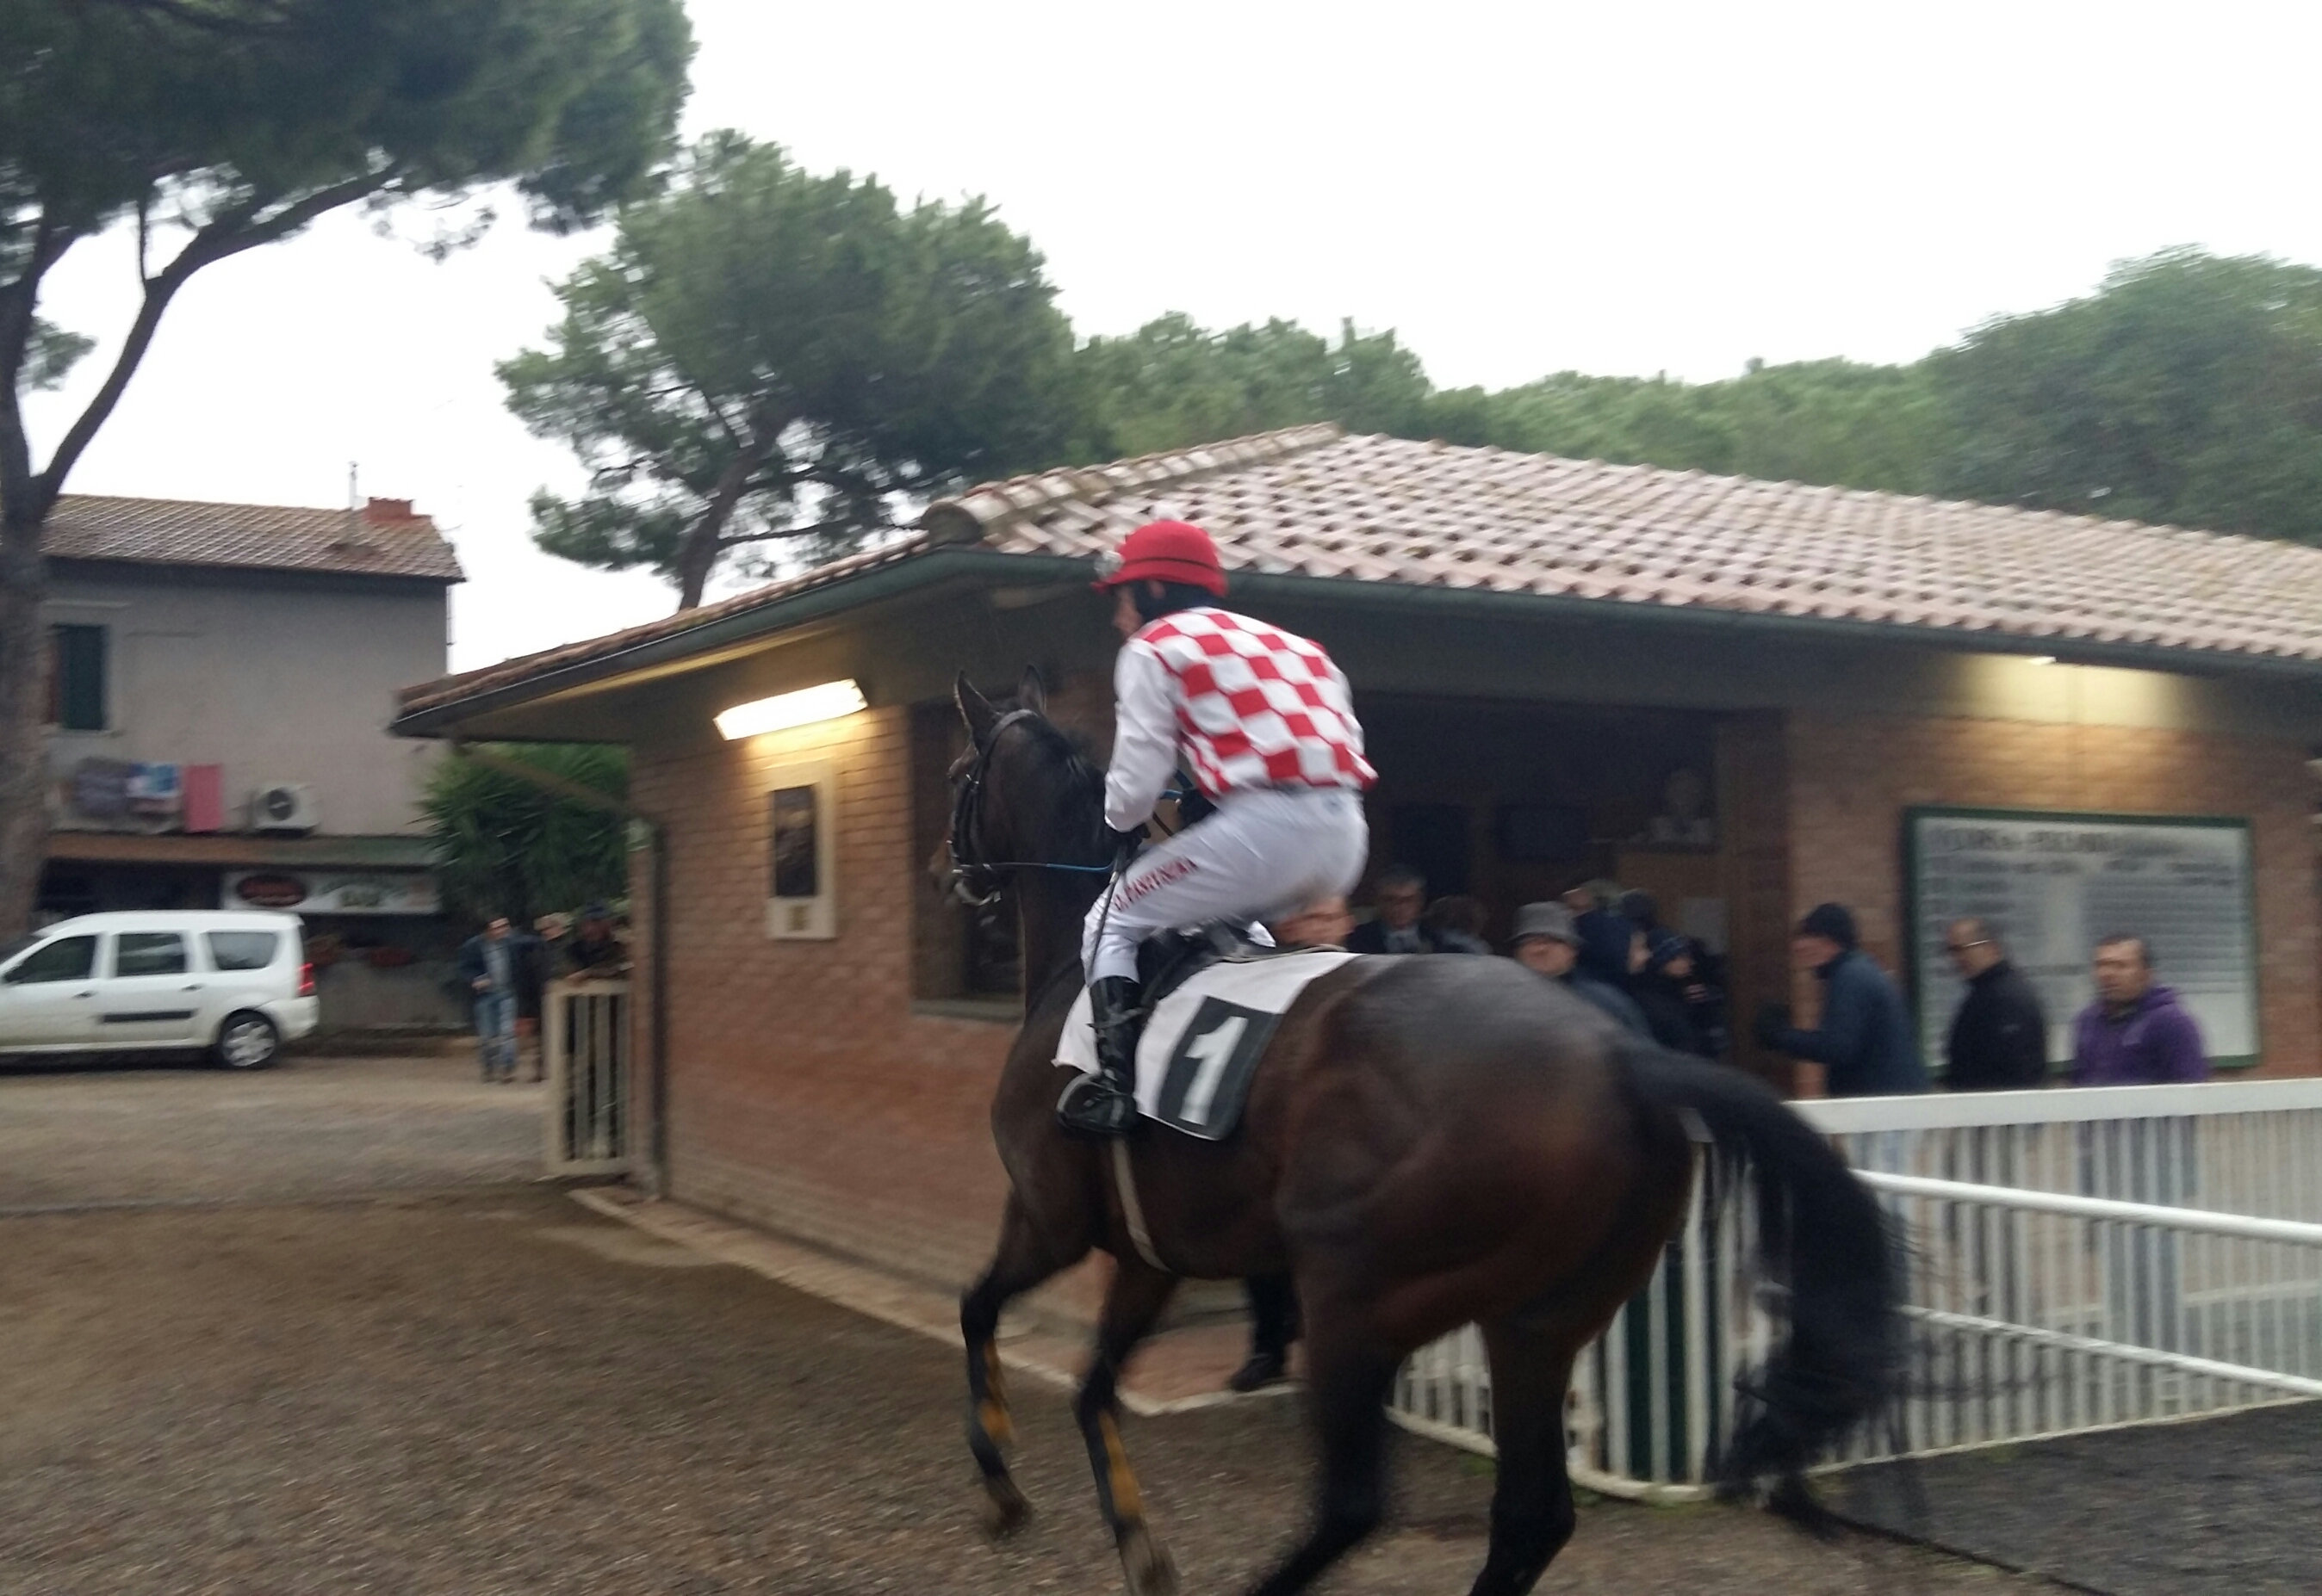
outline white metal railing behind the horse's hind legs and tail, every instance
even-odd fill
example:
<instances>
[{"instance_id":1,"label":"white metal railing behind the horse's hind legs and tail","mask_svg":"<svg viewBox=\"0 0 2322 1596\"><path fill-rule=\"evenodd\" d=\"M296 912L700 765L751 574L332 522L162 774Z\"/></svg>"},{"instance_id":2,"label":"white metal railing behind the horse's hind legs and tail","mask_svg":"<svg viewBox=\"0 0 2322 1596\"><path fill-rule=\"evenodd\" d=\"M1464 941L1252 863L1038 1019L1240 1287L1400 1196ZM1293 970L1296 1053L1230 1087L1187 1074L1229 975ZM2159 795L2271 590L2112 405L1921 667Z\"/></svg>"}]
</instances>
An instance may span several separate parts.
<instances>
[{"instance_id":1,"label":"white metal railing behind the horse's hind legs and tail","mask_svg":"<svg viewBox=\"0 0 2322 1596\"><path fill-rule=\"evenodd\" d=\"M2322 1079L1793 1107L1913 1246L1913 1394L1848 1461L2322 1394ZM1697 1178L1653 1281L1574 1366L1584 1485L1702 1489L1774 1336L1753 1243L1748 1202ZM1474 1327L1414 1355L1391 1406L1488 1450Z\"/></svg>"}]
</instances>

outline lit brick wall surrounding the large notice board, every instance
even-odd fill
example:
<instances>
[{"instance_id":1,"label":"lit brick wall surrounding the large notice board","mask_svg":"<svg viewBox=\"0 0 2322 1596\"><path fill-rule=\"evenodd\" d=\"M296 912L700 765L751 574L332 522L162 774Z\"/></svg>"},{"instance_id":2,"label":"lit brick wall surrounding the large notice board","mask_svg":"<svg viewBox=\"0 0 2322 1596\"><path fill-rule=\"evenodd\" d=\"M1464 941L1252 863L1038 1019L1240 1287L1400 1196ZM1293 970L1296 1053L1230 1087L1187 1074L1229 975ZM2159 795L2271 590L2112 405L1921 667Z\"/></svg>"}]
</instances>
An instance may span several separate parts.
<instances>
[{"instance_id":1,"label":"lit brick wall surrounding the large notice board","mask_svg":"<svg viewBox=\"0 0 2322 1596\"><path fill-rule=\"evenodd\" d=\"M1855 909L1865 949L1902 958L1902 812L1911 805L2250 819L2259 1030L2252 1074L2317 1074L2313 777L2264 738L2006 719L1788 717L1790 900ZM1800 984L1809 1002L1811 984Z\"/></svg>"}]
</instances>

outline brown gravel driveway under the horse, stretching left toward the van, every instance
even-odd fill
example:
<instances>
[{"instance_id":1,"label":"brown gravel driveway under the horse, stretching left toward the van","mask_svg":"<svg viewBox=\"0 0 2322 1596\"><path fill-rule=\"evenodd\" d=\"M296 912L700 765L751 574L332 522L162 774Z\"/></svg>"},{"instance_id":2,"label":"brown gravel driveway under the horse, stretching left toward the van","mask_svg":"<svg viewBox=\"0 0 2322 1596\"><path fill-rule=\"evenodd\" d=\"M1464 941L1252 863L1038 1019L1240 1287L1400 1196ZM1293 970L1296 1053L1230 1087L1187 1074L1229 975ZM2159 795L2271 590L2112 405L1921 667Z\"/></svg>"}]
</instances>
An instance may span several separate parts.
<instances>
[{"instance_id":1,"label":"brown gravel driveway under the horse, stretching left toward the van","mask_svg":"<svg viewBox=\"0 0 2322 1596\"><path fill-rule=\"evenodd\" d=\"M534 1134L460 1060L0 1074L0 1591L1119 1589L1061 1392L1019 1383L1040 1517L991 1547L952 1348L583 1211ZM1293 1401L1126 1431L1189 1596L1305 1515ZM1465 1591L1488 1494L1400 1443L1391 1533L1324 1589ZM1539 1589L2048 1587L1600 1503Z\"/></svg>"}]
</instances>

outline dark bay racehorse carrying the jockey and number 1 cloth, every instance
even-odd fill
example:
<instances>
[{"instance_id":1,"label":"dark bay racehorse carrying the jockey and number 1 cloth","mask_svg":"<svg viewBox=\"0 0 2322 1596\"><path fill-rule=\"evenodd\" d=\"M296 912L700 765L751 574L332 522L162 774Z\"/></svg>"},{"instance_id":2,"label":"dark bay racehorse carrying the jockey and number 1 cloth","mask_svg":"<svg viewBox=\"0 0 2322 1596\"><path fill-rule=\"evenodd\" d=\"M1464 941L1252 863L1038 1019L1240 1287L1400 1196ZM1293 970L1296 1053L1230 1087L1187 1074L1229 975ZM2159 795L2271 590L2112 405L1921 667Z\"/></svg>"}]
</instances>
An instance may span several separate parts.
<instances>
[{"instance_id":1,"label":"dark bay racehorse carrying the jockey and number 1 cloth","mask_svg":"<svg viewBox=\"0 0 2322 1596\"><path fill-rule=\"evenodd\" d=\"M1254 1596L1305 1589L1379 1522L1386 1394L1402 1359L1481 1325L1500 1452L1472 1596L1521 1596L1572 1536L1572 1359L1651 1276L1693 1181L1693 1141L1751 1171L1765 1274L1788 1334L1748 1380L1732 1482L1804 1466L1897 1378L1897 1257L1830 1146L1737 1069L1623 1037L1502 958L1356 958L1307 986L1252 1081L1242 1125L1198 1141L1145 1123L1122 1151L1057 1127L1054 1067L1080 993L1080 926L1105 886L1103 772L1045 717L957 687L952 879L1003 884L1024 930L1024 1030L991 1102L1012 1192L991 1267L961 1299L968 1448L989 1517L1026 1512L1001 1445L1001 1306L1091 1248L1117 1262L1075 1417L1133 1596L1175 1589L1117 1427L1117 1380L1180 1278L1289 1269L1305 1313L1321 1501Z\"/></svg>"}]
</instances>

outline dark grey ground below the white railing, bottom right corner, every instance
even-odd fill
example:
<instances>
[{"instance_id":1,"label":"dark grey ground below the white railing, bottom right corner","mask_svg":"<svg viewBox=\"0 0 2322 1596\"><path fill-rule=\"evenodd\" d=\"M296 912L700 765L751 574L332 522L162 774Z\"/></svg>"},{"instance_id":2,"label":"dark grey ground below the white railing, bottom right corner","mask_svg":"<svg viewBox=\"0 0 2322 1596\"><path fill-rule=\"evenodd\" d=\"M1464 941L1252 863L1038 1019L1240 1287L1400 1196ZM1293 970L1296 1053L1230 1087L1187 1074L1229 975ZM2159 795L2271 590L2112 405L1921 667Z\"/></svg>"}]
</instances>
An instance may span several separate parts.
<instances>
[{"instance_id":1,"label":"dark grey ground below the white railing, bottom right corner","mask_svg":"<svg viewBox=\"0 0 2322 1596\"><path fill-rule=\"evenodd\" d=\"M1839 1478L1853 1519L2113 1596L2322 1591L2322 1406L2259 1408ZM2069 1510L2060 1510L2069 1503Z\"/></svg>"}]
</instances>

